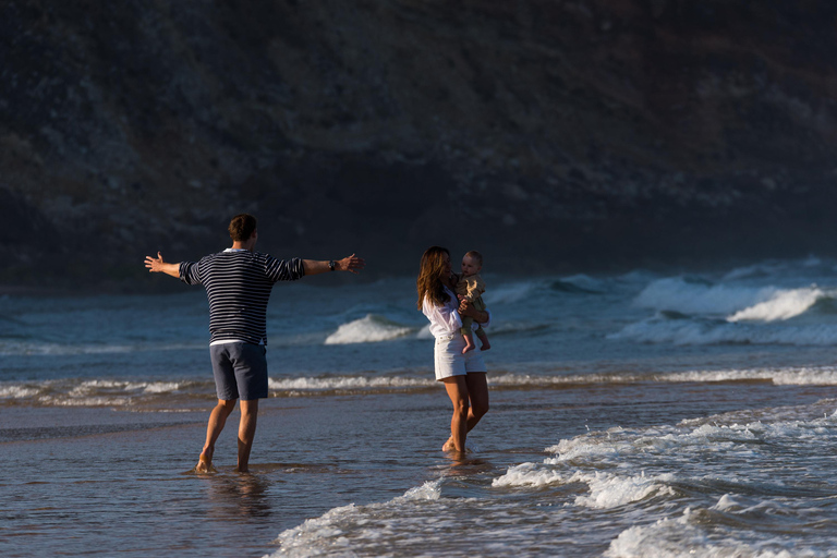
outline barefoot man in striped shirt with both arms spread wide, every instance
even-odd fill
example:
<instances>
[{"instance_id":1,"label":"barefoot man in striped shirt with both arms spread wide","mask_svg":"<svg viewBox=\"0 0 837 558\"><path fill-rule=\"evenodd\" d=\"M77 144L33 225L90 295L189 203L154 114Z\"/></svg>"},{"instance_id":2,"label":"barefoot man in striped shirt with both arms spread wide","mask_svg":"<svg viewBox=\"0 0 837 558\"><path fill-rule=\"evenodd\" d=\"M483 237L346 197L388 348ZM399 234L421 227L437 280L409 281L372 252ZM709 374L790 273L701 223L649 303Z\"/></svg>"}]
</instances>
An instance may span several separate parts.
<instances>
[{"instance_id":1,"label":"barefoot man in striped shirt with both arms spread wide","mask_svg":"<svg viewBox=\"0 0 837 558\"><path fill-rule=\"evenodd\" d=\"M203 284L209 299L209 354L213 361L218 404L209 415L206 444L195 471L214 471L215 442L227 417L241 399L238 471L247 472L250 450L256 434L258 400L267 393L267 302L277 281L293 281L326 271L356 274L365 262L352 254L337 262L292 258L276 259L254 252L258 240L256 218L242 214L230 221L232 247L210 254L201 262L168 264L158 252L146 256L150 272L178 277L186 284Z\"/></svg>"}]
</instances>

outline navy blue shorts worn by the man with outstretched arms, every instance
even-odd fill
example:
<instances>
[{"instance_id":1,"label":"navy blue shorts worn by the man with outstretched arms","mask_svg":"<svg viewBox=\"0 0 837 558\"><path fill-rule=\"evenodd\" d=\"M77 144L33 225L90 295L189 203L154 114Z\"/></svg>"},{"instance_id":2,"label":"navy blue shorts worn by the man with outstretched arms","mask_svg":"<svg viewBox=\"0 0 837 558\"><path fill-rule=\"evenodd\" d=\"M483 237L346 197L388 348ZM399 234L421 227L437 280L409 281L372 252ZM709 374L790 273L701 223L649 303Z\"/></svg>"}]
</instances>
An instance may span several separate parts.
<instances>
[{"instance_id":1,"label":"navy blue shorts worn by the man with outstretched arms","mask_svg":"<svg viewBox=\"0 0 837 558\"><path fill-rule=\"evenodd\" d=\"M254 343L221 343L209 347L218 399L267 397L267 348Z\"/></svg>"}]
</instances>

